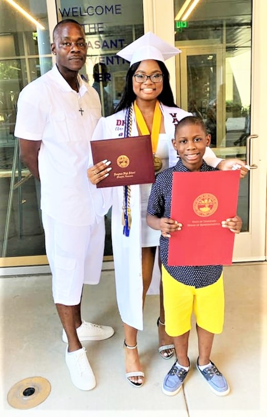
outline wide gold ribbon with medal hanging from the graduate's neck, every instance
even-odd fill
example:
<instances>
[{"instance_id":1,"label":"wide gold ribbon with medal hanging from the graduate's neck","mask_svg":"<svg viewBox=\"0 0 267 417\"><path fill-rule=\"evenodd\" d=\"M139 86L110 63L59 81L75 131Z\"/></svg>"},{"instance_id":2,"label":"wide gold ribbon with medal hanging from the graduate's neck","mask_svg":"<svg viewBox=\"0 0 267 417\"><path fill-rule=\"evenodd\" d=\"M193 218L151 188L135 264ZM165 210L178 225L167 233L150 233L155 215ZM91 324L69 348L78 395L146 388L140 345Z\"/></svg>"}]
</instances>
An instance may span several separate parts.
<instances>
[{"instance_id":1,"label":"wide gold ribbon with medal hanging from the graduate's neck","mask_svg":"<svg viewBox=\"0 0 267 417\"><path fill-rule=\"evenodd\" d=\"M154 158L154 169L157 172L162 167L161 159L156 157L155 155L157 151L157 147L158 147L160 125L161 125L161 120L162 120L162 113L161 113L159 102L158 101L156 102L156 106L154 109L152 132L149 131L149 128L147 127L145 123L141 110L137 106L136 101L134 102L134 112L135 112L135 117L136 117L136 123L141 132L141 135L151 134L152 152L153 152L153 158Z\"/></svg>"}]
</instances>

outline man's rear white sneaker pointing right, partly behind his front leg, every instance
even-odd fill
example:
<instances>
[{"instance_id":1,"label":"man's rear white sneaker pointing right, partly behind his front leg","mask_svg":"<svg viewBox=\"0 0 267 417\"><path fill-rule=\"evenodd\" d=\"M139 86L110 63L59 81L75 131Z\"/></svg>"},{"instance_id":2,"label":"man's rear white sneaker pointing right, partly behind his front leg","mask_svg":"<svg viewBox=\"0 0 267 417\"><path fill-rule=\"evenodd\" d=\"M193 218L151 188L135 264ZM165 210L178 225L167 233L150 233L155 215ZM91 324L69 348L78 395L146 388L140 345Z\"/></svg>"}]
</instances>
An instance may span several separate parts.
<instances>
[{"instance_id":1,"label":"man's rear white sneaker pointing right, partly behind his front leg","mask_svg":"<svg viewBox=\"0 0 267 417\"><path fill-rule=\"evenodd\" d=\"M114 335L114 329L110 326L99 326L98 324L89 323L83 320L80 327L78 327L77 336L80 342L86 340L105 340ZM62 340L68 343L68 338L65 330L63 329Z\"/></svg>"}]
</instances>

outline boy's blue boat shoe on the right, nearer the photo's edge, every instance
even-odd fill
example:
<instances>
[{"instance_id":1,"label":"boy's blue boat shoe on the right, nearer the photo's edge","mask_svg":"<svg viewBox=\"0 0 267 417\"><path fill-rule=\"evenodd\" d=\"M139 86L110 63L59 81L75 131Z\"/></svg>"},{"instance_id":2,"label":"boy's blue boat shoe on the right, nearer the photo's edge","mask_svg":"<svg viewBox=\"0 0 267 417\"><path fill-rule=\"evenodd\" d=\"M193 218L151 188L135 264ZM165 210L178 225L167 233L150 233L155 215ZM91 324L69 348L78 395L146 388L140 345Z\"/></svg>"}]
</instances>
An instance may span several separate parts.
<instances>
[{"instance_id":1,"label":"boy's blue boat shoe on the right, nearer the photo's edge","mask_svg":"<svg viewBox=\"0 0 267 417\"><path fill-rule=\"evenodd\" d=\"M219 369L214 365L212 361L211 361L211 365L207 366L205 369L203 369L203 371L201 371L199 369L198 359L197 359L196 368L203 375L203 377L209 384L210 389L212 390L214 394L219 395L221 397L229 394L230 388L225 377L219 371Z\"/></svg>"}]
</instances>

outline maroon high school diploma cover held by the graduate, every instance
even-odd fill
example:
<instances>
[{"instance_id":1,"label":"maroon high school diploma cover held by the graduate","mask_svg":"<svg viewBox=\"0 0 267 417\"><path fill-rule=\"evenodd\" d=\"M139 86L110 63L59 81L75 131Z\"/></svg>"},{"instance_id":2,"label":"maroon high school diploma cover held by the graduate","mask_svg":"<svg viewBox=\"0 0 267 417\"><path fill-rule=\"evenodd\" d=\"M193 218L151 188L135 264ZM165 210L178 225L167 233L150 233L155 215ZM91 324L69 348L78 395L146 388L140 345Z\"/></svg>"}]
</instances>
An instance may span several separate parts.
<instances>
[{"instance_id":1,"label":"maroon high school diploma cover held by the graduate","mask_svg":"<svg viewBox=\"0 0 267 417\"><path fill-rule=\"evenodd\" d=\"M155 182L151 136L131 136L91 142L94 164L111 161L109 175L97 188Z\"/></svg>"}]
</instances>

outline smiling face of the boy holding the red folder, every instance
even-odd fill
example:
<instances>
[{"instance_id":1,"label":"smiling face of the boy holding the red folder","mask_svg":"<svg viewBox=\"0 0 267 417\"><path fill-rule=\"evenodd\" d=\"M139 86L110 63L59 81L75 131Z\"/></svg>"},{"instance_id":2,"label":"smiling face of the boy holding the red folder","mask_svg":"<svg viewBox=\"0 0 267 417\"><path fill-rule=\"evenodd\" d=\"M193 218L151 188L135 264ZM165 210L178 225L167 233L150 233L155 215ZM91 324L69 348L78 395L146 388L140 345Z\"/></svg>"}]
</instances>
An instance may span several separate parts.
<instances>
[{"instance_id":1,"label":"smiling face of the boy holding the red folder","mask_svg":"<svg viewBox=\"0 0 267 417\"><path fill-rule=\"evenodd\" d=\"M207 135L198 124L178 127L175 139L172 139L174 149L190 171L199 171L206 146L209 146L210 143L211 136Z\"/></svg>"}]
</instances>

